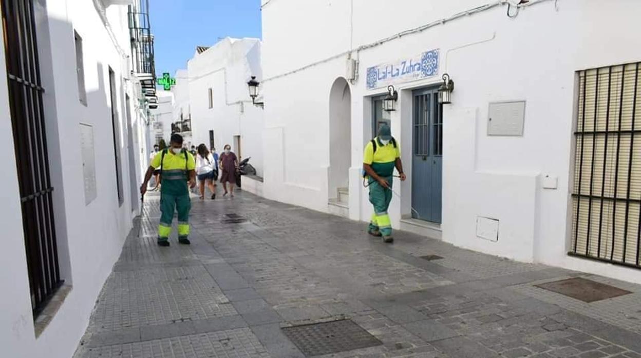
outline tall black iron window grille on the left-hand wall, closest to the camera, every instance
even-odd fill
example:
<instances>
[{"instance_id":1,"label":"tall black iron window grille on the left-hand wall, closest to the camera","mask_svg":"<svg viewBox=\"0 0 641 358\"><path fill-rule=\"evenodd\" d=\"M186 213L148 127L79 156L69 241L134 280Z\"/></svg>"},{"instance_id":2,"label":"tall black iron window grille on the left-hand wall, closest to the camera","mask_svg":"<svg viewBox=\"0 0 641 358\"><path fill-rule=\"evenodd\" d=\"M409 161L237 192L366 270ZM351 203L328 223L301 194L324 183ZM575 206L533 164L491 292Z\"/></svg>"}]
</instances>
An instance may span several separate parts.
<instances>
[{"instance_id":1,"label":"tall black iron window grille on the left-hand wall, closest to the camera","mask_svg":"<svg viewBox=\"0 0 641 358\"><path fill-rule=\"evenodd\" d=\"M34 318L60 279L32 0L3 0L4 51Z\"/></svg>"}]
</instances>

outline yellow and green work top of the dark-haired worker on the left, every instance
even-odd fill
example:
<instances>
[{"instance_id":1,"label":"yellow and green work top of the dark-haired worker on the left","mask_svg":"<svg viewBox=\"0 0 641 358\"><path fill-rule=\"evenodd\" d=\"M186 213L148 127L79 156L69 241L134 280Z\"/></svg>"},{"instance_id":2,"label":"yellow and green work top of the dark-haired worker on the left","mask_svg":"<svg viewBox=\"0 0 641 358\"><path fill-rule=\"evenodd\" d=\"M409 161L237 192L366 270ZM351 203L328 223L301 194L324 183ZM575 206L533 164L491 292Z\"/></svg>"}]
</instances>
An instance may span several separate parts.
<instances>
[{"instance_id":1,"label":"yellow and green work top of the dark-haired worker on the left","mask_svg":"<svg viewBox=\"0 0 641 358\"><path fill-rule=\"evenodd\" d=\"M165 153L164 157L163 153ZM189 180L189 171L196 169L194 156L185 151L185 149L178 154L164 149L156 154L151 161L151 167L154 167L154 169L160 168L161 159L163 161L162 172L160 173L160 178L162 179L161 193L188 195L187 181Z\"/></svg>"}]
</instances>

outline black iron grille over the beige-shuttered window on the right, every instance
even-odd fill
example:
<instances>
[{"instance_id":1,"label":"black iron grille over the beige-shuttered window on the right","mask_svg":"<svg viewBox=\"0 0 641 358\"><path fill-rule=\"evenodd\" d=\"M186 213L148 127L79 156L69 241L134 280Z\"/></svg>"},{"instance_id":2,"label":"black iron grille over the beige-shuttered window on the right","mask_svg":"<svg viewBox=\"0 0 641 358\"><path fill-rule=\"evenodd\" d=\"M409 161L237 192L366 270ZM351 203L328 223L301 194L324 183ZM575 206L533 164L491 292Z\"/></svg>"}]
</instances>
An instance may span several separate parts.
<instances>
[{"instance_id":1,"label":"black iron grille over the beige-shuttered window on the right","mask_svg":"<svg viewBox=\"0 0 641 358\"><path fill-rule=\"evenodd\" d=\"M578 72L570 255L640 267L640 63Z\"/></svg>"}]
</instances>

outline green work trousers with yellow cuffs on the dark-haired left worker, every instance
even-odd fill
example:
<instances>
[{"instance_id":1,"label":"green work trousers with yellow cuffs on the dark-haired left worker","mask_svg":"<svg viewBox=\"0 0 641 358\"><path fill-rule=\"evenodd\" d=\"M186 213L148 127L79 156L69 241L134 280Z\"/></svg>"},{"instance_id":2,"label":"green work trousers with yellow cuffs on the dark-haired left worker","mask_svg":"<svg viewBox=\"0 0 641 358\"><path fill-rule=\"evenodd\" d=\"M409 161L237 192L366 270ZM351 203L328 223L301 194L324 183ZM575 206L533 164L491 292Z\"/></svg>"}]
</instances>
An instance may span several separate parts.
<instances>
[{"instance_id":1,"label":"green work trousers with yellow cuffs on the dark-haired left worker","mask_svg":"<svg viewBox=\"0 0 641 358\"><path fill-rule=\"evenodd\" d=\"M160 216L160 225L158 225L158 241L169 240L174 210L178 210L178 238L186 239L189 235L189 210L191 208L192 201L189 199L188 191L181 195L161 193L160 211L162 215Z\"/></svg>"}]
</instances>

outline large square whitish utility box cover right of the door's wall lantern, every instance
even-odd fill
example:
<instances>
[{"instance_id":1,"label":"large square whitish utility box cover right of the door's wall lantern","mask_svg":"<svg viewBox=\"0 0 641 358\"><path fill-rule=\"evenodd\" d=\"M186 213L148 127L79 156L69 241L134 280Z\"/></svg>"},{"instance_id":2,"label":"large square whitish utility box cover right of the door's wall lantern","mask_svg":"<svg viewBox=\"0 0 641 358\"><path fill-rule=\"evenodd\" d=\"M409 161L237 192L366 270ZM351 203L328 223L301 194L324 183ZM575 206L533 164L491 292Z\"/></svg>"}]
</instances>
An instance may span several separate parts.
<instances>
[{"instance_id":1,"label":"large square whitish utility box cover right of the door's wall lantern","mask_svg":"<svg viewBox=\"0 0 641 358\"><path fill-rule=\"evenodd\" d=\"M525 101L492 102L488 110L488 136L522 136Z\"/></svg>"}]
</instances>

